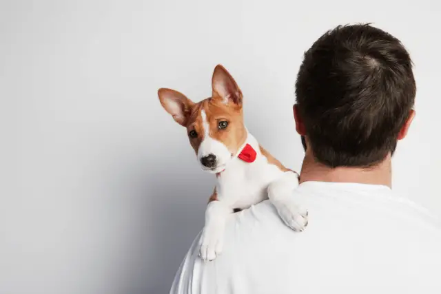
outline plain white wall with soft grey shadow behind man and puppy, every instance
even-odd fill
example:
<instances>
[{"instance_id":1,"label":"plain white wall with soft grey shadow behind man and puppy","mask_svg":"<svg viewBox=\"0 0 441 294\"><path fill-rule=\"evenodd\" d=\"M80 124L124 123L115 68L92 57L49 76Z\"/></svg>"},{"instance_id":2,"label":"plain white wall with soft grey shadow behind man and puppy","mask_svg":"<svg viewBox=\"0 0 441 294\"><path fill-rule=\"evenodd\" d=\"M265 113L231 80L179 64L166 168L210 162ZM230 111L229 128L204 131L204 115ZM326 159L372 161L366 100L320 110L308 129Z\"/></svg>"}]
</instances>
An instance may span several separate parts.
<instances>
[{"instance_id":1,"label":"plain white wall with soft grey shadow behind man and puppy","mask_svg":"<svg viewBox=\"0 0 441 294\"><path fill-rule=\"evenodd\" d=\"M223 64L250 132L298 169L296 72L338 24L411 53L393 189L441 214L440 18L439 1L1 1L0 293L167 293L214 178L156 91L199 101Z\"/></svg>"}]
</instances>

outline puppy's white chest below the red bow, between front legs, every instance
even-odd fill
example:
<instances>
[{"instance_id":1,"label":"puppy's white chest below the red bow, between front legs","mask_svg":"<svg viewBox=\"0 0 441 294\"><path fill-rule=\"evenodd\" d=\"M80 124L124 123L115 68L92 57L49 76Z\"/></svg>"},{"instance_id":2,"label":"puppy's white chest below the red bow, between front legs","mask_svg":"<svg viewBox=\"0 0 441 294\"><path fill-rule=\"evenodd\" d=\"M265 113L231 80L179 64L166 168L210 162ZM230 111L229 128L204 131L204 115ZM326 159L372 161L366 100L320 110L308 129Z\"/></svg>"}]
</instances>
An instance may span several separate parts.
<instances>
[{"instance_id":1,"label":"puppy's white chest below the red bow, between front legs","mask_svg":"<svg viewBox=\"0 0 441 294\"><path fill-rule=\"evenodd\" d=\"M232 208L245 209L267 199L269 183L282 174L283 171L269 164L267 158L261 154L258 154L254 162L244 162L236 158L218 176L218 198Z\"/></svg>"}]
</instances>

